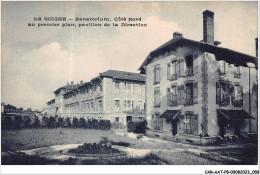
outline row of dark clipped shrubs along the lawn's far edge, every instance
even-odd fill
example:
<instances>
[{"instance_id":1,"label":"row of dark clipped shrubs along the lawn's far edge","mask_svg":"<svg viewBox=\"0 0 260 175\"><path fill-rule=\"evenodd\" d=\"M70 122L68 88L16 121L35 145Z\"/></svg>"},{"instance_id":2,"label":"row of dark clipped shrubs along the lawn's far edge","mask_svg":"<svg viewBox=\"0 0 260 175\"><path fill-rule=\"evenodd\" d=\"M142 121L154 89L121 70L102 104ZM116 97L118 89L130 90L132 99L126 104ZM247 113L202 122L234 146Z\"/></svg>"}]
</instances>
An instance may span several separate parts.
<instances>
[{"instance_id":1,"label":"row of dark clipped shrubs along the lawn's far edge","mask_svg":"<svg viewBox=\"0 0 260 175\"><path fill-rule=\"evenodd\" d=\"M81 117L80 119L74 117L71 121L70 117L47 117L43 116L41 121L39 117L35 116L31 121L29 116L15 116L13 119L10 116L2 117L3 129L22 129L22 128L85 128L85 129L100 129L110 130L111 123L109 120L96 120Z\"/></svg>"}]
</instances>

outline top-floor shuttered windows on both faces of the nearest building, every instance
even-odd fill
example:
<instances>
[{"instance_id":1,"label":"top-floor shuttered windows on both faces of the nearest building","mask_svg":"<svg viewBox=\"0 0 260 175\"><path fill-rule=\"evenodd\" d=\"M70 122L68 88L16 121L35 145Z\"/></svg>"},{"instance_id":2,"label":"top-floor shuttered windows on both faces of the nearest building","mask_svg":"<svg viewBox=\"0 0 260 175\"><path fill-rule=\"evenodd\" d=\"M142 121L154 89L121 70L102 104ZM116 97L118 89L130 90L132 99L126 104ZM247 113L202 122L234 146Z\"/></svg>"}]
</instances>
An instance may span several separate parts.
<instances>
[{"instance_id":1,"label":"top-floor shuttered windows on both faces of the nearest building","mask_svg":"<svg viewBox=\"0 0 260 175\"><path fill-rule=\"evenodd\" d=\"M231 66L231 65L229 65ZM223 60L218 61L218 71L220 74L225 74L227 63ZM185 59L174 59L167 64L167 79L176 80L182 76L192 76L198 72L198 66L194 65L194 57L192 55L186 56ZM234 77L239 78L241 71L239 66L234 66ZM154 67L154 83L160 83L160 65Z\"/></svg>"}]
</instances>

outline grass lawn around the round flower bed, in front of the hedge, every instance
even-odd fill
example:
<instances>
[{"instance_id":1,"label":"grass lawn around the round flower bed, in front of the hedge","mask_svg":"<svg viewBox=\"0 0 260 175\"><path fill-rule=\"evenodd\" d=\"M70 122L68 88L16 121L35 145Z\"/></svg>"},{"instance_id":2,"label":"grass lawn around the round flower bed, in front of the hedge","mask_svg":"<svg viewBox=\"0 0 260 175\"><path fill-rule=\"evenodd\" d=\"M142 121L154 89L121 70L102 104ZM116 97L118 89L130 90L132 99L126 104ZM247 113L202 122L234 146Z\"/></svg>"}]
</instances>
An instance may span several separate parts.
<instances>
[{"instance_id":1,"label":"grass lawn around the round flower bed, in front of the hedge","mask_svg":"<svg viewBox=\"0 0 260 175\"><path fill-rule=\"evenodd\" d=\"M115 134L113 131L101 131L91 129L23 129L23 130L2 130L2 151L6 150L27 150L52 145L62 144L79 144L79 143L94 143L99 142L102 137L107 137L113 142L129 143L129 147L137 149L154 149L162 151L152 151L151 154L144 158L130 158L121 159L110 162L89 162L77 161L71 159L67 162L50 162L50 164L170 164L170 165L215 165L221 164L219 162L208 160L206 158L198 157L184 151L174 151L175 149L182 148L183 145L174 142L145 142L136 138L129 138ZM168 150L172 150L169 151ZM22 156L22 157L21 157ZM19 158L20 160L29 161L30 157L2 157L2 160L8 164L8 160ZM37 159L37 157L32 157ZM3 162L2 161L2 162ZM9 161L10 162L10 161ZM24 162L24 164L27 164ZM37 161L36 161L37 162ZM46 161L41 160L40 162ZM48 161L47 161L48 163ZM4 163L3 163L4 164ZM10 163L9 163L10 164Z\"/></svg>"}]
</instances>

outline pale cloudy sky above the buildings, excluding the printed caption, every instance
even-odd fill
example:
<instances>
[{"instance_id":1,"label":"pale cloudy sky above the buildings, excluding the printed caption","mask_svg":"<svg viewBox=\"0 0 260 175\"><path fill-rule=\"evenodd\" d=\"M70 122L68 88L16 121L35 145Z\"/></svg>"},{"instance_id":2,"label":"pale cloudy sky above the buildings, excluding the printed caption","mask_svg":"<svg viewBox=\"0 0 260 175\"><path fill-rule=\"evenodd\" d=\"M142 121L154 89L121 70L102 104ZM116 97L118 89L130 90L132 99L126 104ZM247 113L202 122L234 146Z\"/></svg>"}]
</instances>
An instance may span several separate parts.
<instances>
[{"instance_id":1,"label":"pale cloudy sky above the buildings, excluding the printed caption","mask_svg":"<svg viewBox=\"0 0 260 175\"><path fill-rule=\"evenodd\" d=\"M40 110L67 82L86 82L108 69L138 72L175 31L202 40L204 10L215 13L221 47L255 56L258 37L257 2L9 1L1 10L1 101ZM28 27L34 17L141 17L147 27Z\"/></svg>"}]
</instances>

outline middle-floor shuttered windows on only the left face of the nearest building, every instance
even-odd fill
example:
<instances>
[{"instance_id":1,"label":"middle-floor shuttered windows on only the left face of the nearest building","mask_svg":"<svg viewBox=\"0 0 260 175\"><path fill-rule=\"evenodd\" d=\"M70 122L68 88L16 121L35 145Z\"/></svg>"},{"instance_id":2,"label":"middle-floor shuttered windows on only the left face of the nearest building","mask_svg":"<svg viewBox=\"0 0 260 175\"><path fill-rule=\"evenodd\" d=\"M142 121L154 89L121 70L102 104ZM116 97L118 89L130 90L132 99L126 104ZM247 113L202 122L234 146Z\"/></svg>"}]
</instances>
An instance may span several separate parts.
<instances>
[{"instance_id":1,"label":"middle-floor shuttered windows on only the left face of the nearest building","mask_svg":"<svg viewBox=\"0 0 260 175\"><path fill-rule=\"evenodd\" d=\"M183 85L172 85L166 88L168 106L192 105L198 103L198 83L189 82ZM154 89L154 106L161 104L160 87Z\"/></svg>"}]
</instances>

